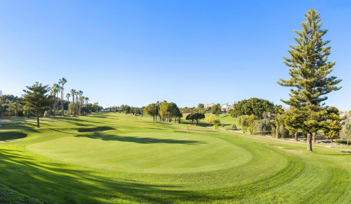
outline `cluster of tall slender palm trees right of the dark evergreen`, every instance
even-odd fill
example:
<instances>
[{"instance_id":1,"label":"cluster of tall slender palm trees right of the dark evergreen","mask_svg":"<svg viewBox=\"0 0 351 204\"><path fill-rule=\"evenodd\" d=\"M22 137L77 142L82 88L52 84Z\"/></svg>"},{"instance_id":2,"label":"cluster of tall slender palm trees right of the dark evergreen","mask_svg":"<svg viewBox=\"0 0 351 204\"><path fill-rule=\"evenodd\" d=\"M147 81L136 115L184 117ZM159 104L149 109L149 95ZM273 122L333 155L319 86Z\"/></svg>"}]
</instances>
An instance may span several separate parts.
<instances>
[{"instance_id":1,"label":"cluster of tall slender palm trees right of the dark evergreen","mask_svg":"<svg viewBox=\"0 0 351 204\"><path fill-rule=\"evenodd\" d=\"M60 101L61 101L61 114L62 116L64 115L64 85L67 83L67 80L63 77L62 79L59 80L58 83L54 83L54 85L51 88L51 94L54 96L54 117L55 115L59 114L59 106L58 106L58 99L59 99L59 93L60 93ZM83 91L78 90L76 91L75 89L71 89L71 93L66 94L67 102L68 102L68 115L69 113L69 98L72 96L72 115L81 115L81 108L85 105L86 107L88 106L88 101L89 98L83 96ZM94 103L94 107L98 106L98 103Z\"/></svg>"}]
</instances>

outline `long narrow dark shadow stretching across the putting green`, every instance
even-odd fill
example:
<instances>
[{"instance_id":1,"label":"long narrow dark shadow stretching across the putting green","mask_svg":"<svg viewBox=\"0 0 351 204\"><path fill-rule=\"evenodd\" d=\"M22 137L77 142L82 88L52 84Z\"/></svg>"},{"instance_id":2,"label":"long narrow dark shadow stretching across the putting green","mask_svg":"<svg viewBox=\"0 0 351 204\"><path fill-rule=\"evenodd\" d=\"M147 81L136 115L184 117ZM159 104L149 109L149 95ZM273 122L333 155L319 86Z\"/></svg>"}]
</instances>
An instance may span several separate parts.
<instances>
[{"instance_id":1,"label":"long narrow dark shadow stretching across the putting green","mask_svg":"<svg viewBox=\"0 0 351 204\"><path fill-rule=\"evenodd\" d=\"M106 135L101 133L75 135L74 137L88 137L92 139L100 139L104 141L120 141L120 142L135 142L140 144L156 144L156 143L169 143L169 144L207 144L204 141L196 140L174 140L174 139L159 139L153 137L136 137L136 136L120 136L120 135Z\"/></svg>"}]
</instances>

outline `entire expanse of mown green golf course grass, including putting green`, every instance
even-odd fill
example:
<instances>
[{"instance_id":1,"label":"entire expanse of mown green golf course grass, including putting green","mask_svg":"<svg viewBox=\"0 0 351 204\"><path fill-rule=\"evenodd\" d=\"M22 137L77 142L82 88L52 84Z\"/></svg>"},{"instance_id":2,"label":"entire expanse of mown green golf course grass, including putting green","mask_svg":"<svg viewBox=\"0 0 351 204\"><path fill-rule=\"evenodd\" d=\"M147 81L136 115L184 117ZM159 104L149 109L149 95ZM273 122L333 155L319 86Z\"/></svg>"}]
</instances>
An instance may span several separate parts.
<instances>
[{"instance_id":1,"label":"entire expanse of mown green golf course grass, including putting green","mask_svg":"<svg viewBox=\"0 0 351 204\"><path fill-rule=\"evenodd\" d=\"M120 113L35 122L0 119L0 203L351 200L350 147L307 152L305 142ZM9 141L17 130L26 137Z\"/></svg>"}]
</instances>

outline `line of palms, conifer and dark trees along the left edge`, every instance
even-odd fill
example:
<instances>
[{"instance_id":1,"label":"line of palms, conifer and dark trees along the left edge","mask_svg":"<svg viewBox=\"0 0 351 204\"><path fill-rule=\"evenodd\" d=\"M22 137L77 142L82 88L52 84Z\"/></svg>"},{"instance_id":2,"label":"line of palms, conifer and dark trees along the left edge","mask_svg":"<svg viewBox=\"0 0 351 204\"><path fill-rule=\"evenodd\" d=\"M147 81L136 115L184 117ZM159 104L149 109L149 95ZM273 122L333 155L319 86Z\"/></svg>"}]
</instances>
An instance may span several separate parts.
<instances>
[{"instance_id":1,"label":"line of palms, conifer and dark trees along the left edge","mask_svg":"<svg viewBox=\"0 0 351 204\"><path fill-rule=\"evenodd\" d=\"M0 90L0 117L1 116L37 116L37 127L39 128L39 117L53 117L61 115L87 116L97 112L103 107L98 103L88 103L89 98L83 96L83 91L71 89L64 95L65 78L54 83L52 87L42 85L39 82L32 86L26 86L21 97L14 95L2 95ZM69 102L72 96L72 102ZM67 100L65 100L67 98Z\"/></svg>"}]
</instances>

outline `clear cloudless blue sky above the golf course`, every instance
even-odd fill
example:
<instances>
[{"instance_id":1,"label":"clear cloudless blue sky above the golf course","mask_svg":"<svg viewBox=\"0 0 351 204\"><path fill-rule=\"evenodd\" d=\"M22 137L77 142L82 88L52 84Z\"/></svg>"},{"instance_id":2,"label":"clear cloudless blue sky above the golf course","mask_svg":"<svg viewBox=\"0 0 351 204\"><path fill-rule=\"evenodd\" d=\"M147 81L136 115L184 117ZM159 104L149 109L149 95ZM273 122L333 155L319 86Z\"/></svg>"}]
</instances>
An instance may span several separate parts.
<instances>
[{"instance_id":1,"label":"clear cloudless blue sky above the golf course","mask_svg":"<svg viewBox=\"0 0 351 204\"><path fill-rule=\"evenodd\" d=\"M330 31L327 105L351 109L350 1L0 1L0 89L67 79L104 107L260 97L282 104L293 30L313 7Z\"/></svg>"}]
</instances>

